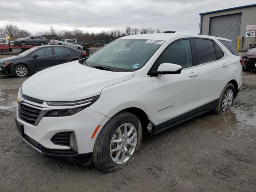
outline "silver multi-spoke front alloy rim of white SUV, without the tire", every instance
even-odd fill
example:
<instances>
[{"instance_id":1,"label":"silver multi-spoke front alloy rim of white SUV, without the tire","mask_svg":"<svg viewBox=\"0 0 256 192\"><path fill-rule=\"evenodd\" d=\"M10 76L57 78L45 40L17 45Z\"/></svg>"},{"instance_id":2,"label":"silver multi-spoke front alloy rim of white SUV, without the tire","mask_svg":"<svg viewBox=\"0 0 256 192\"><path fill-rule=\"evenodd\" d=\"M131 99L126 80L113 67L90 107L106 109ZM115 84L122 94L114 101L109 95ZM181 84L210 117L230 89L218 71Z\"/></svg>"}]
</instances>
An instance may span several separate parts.
<instances>
[{"instance_id":1,"label":"silver multi-spoke front alloy rim of white SUV, without the tire","mask_svg":"<svg viewBox=\"0 0 256 192\"><path fill-rule=\"evenodd\" d=\"M110 143L110 157L115 164L124 164L135 151L137 145L136 128L125 123L119 126L112 136Z\"/></svg>"}]
</instances>

